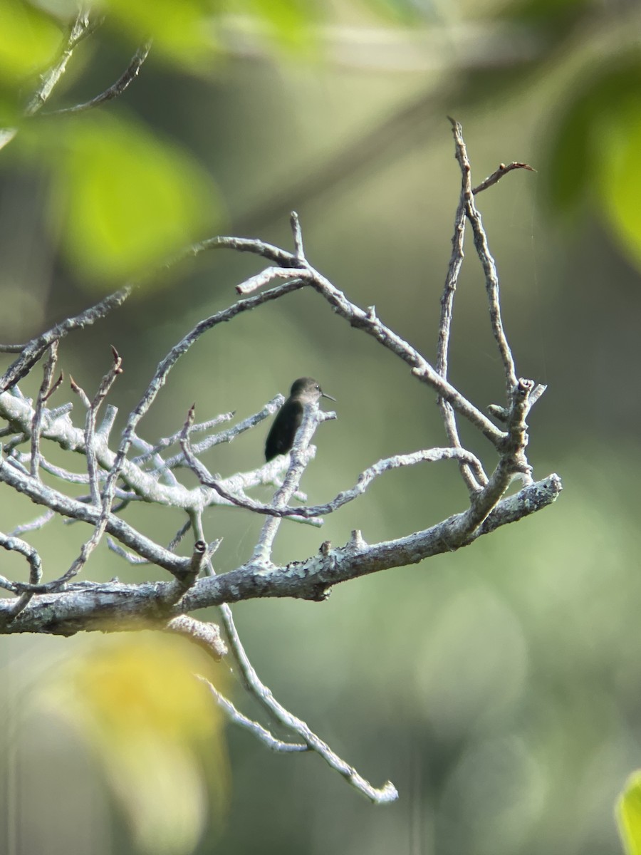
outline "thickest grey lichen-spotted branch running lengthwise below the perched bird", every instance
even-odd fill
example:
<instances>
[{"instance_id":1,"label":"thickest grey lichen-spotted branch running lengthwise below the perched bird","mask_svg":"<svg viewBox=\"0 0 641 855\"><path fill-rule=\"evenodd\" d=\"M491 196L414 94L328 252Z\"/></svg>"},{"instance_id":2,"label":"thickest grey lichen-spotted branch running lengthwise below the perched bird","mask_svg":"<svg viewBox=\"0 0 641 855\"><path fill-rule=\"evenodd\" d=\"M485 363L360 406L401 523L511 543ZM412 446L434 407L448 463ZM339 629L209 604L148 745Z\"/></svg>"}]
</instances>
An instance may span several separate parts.
<instances>
[{"instance_id":1,"label":"thickest grey lichen-spotted branch running lengthwise below the perched bird","mask_svg":"<svg viewBox=\"0 0 641 855\"><path fill-rule=\"evenodd\" d=\"M317 555L283 568L261 570L252 564L243 565L225 575L198 580L185 593L179 607L173 607L170 616L253 598L323 599L332 585L338 582L419 563L424 558L468 546L480 535L489 534L509 522L517 522L552 504L561 490L559 476L549 475L513 496L502 498L464 542L461 542L460 533L465 514L456 514L424 531L378 544L368 545L356 532L344 546L333 548L330 543L325 543ZM176 561L187 565L190 560L176 558ZM185 564L181 569L184 567ZM164 619L163 609L166 608L171 584L71 583L65 593L32 598L26 609L15 618L10 631L72 635L81 631L142 628L148 626L150 620L157 621L159 612ZM10 601L6 604L0 601L0 632L9 631L3 622L9 609Z\"/></svg>"}]
</instances>

